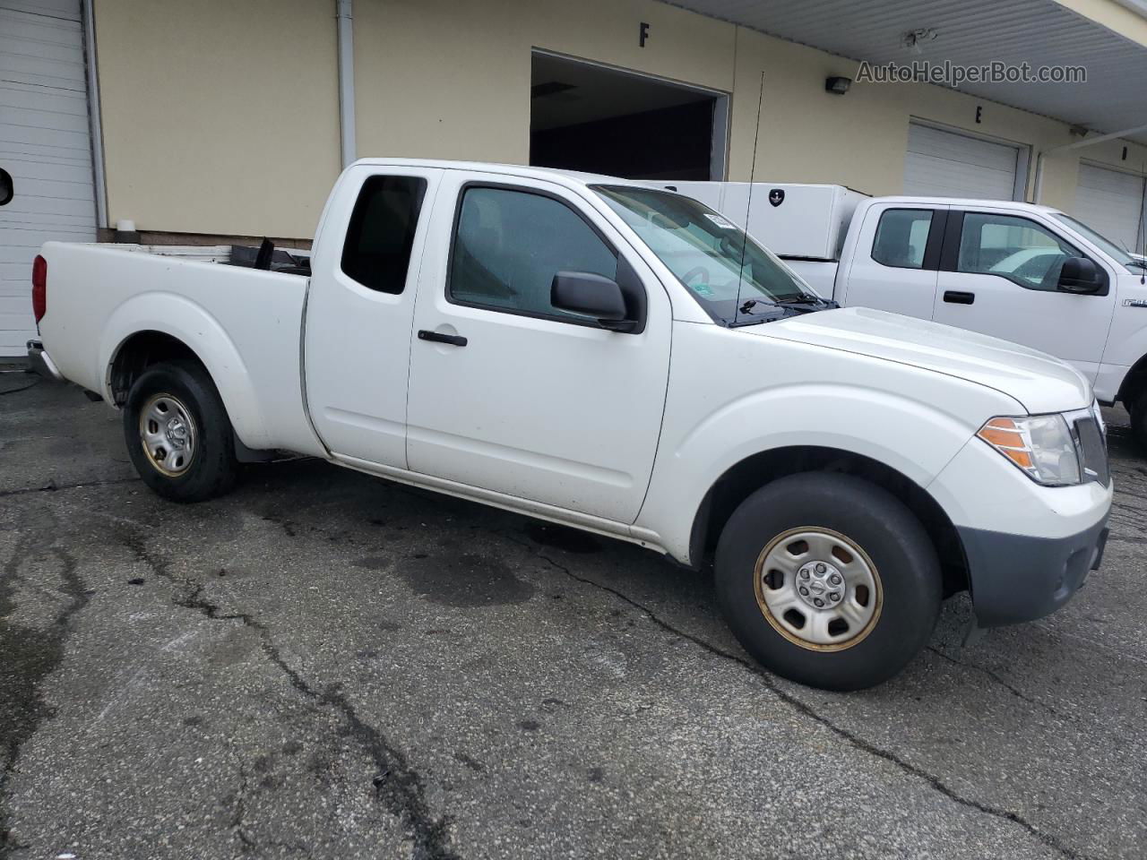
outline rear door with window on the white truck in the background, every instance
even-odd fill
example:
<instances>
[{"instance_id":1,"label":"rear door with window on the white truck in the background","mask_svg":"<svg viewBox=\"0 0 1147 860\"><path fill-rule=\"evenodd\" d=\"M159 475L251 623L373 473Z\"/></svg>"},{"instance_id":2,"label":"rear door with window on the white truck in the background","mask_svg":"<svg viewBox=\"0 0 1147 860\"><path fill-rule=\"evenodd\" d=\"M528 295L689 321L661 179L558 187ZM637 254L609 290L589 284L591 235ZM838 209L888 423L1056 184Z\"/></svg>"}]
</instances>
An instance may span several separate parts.
<instances>
[{"instance_id":1,"label":"rear door with window on the white truck in the background","mask_svg":"<svg viewBox=\"0 0 1147 860\"><path fill-rule=\"evenodd\" d=\"M875 205L865 213L841 304L930 320L944 206Z\"/></svg>"}]
</instances>

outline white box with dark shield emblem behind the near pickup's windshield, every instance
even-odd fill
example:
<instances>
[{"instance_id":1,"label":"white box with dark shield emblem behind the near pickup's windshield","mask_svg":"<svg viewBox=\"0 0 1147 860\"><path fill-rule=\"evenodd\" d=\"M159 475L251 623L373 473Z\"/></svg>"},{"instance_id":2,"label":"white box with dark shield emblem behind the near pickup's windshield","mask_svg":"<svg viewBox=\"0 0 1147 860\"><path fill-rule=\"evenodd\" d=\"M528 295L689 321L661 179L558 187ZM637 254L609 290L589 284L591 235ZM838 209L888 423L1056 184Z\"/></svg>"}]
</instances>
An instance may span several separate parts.
<instances>
[{"instance_id":1,"label":"white box with dark shield emblem behind the near pickup's windshield","mask_svg":"<svg viewBox=\"0 0 1147 860\"><path fill-rule=\"evenodd\" d=\"M701 201L778 257L797 260L840 259L852 213L867 197L842 185L700 181L650 185Z\"/></svg>"}]
</instances>

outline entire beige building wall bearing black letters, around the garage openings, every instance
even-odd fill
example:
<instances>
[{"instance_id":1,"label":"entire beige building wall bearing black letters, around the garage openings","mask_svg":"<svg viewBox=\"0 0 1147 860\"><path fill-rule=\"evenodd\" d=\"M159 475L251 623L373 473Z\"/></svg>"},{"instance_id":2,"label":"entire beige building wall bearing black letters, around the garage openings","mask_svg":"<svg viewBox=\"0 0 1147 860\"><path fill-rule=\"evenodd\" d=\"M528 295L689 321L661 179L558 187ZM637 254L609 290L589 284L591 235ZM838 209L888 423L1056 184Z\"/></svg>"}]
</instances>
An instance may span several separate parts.
<instances>
[{"instance_id":1,"label":"entire beige building wall bearing black letters, around the garage openings","mask_svg":"<svg viewBox=\"0 0 1147 860\"><path fill-rule=\"evenodd\" d=\"M1109 0L1061 1L1119 17ZM112 222L311 236L338 171L334 8L96 0ZM535 48L728 93L729 179L749 178L758 99L758 179L876 195L903 188L913 118L1031 147L1029 200L1039 153L1077 140L1063 123L935 86L832 95L825 78L855 78L857 63L654 0L354 0L359 155L526 163ZM1124 162L1123 146L1044 158L1041 202L1071 209L1080 156L1138 172L1147 148Z\"/></svg>"}]
</instances>

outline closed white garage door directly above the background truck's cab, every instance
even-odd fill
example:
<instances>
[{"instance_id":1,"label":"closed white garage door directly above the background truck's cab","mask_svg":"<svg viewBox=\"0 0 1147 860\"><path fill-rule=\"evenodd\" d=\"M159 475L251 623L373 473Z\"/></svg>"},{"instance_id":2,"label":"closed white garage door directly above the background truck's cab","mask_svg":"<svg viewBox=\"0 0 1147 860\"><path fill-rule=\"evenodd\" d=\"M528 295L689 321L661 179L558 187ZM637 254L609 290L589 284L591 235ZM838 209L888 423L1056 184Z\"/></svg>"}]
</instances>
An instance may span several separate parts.
<instances>
[{"instance_id":1,"label":"closed white garage door directly above the background truck's cab","mask_svg":"<svg viewBox=\"0 0 1147 860\"><path fill-rule=\"evenodd\" d=\"M904 193L1013 200L1019 163L1019 147L910 123Z\"/></svg>"}]
</instances>

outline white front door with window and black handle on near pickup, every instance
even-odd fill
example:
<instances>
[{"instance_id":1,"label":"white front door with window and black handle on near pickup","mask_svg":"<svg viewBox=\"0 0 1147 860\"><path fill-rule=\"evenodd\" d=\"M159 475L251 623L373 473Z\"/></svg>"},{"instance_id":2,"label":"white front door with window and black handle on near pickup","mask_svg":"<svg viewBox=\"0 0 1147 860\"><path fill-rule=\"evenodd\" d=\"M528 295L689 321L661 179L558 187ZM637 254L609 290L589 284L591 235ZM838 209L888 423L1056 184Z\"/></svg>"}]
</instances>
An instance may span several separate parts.
<instances>
[{"instance_id":1,"label":"white front door with window and black handle on near pickup","mask_svg":"<svg viewBox=\"0 0 1147 860\"><path fill-rule=\"evenodd\" d=\"M665 405L669 297L560 186L450 171L437 200L411 349L409 468L632 523ZM622 280L626 265L647 297L639 334L551 305L556 272Z\"/></svg>"}]
</instances>

